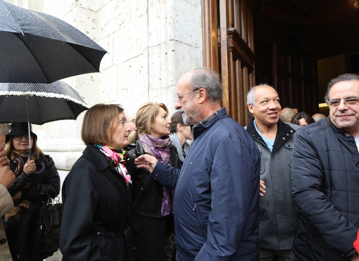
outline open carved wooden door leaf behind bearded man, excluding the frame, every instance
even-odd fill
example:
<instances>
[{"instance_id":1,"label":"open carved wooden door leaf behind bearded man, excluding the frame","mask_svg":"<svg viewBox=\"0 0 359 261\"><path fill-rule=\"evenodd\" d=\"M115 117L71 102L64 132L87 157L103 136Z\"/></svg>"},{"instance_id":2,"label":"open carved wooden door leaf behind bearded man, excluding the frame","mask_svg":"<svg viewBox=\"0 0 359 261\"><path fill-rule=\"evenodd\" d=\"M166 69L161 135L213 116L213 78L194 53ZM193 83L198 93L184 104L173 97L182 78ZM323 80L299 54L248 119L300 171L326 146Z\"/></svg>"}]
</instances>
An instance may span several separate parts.
<instances>
[{"instance_id":1,"label":"open carved wooden door leaf behind bearded man, excluding the frame","mask_svg":"<svg viewBox=\"0 0 359 261\"><path fill-rule=\"evenodd\" d=\"M253 8L250 0L219 0L222 101L243 126L248 123L246 95L255 85Z\"/></svg>"}]
</instances>

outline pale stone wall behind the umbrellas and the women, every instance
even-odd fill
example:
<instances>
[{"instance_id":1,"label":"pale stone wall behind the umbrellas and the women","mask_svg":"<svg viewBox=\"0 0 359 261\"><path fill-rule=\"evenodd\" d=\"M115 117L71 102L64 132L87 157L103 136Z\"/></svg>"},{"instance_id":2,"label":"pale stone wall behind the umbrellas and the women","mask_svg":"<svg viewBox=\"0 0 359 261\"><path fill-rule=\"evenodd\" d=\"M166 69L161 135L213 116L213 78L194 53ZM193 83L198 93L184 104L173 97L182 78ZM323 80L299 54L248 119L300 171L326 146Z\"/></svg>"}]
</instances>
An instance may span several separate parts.
<instances>
[{"instance_id":1,"label":"pale stone wall behind the umbrellas and the women","mask_svg":"<svg viewBox=\"0 0 359 261\"><path fill-rule=\"evenodd\" d=\"M163 102L173 113L178 79L202 66L200 0L6 1L56 16L108 52L101 73L64 79L88 105L118 103L131 113L144 102ZM83 114L33 128L61 181L84 149ZM48 260L61 260L61 253Z\"/></svg>"}]
</instances>

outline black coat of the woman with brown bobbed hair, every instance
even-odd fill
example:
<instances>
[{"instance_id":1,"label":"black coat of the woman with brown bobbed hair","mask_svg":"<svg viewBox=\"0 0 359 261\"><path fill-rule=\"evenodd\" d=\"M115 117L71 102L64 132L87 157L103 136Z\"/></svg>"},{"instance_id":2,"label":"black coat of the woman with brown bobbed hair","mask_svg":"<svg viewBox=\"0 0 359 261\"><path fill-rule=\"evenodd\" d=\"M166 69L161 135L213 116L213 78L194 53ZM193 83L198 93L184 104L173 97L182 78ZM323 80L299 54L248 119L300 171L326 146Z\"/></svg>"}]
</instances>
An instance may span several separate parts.
<instances>
[{"instance_id":1,"label":"black coat of the woman with brown bobbed hair","mask_svg":"<svg viewBox=\"0 0 359 261\"><path fill-rule=\"evenodd\" d=\"M62 186L62 260L132 261L127 214L131 194L123 177L93 144L75 162Z\"/></svg>"}]
</instances>

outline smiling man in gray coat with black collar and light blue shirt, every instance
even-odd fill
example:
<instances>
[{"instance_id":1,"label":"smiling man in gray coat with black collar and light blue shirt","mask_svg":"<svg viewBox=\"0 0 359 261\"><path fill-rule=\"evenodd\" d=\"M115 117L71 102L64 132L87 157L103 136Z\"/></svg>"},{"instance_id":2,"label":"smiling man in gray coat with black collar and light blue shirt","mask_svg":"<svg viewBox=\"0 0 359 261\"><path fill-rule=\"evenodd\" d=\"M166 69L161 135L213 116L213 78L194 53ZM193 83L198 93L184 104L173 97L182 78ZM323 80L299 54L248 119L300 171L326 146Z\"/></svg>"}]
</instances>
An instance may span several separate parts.
<instances>
[{"instance_id":1,"label":"smiling man in gray coat with black collar and light blue shirt","mask_svg":"<svg viewBox=\"0 0 359 261\"><path fill-rule=\"evenodd\" d=\"M290 165L300 126L279 119L279 97L271 86L252 87L247 104L254 119L246 129L261 152L259 260L298 260L291 249L300 217L292 199Z\"/></svg>"}]
</instances>

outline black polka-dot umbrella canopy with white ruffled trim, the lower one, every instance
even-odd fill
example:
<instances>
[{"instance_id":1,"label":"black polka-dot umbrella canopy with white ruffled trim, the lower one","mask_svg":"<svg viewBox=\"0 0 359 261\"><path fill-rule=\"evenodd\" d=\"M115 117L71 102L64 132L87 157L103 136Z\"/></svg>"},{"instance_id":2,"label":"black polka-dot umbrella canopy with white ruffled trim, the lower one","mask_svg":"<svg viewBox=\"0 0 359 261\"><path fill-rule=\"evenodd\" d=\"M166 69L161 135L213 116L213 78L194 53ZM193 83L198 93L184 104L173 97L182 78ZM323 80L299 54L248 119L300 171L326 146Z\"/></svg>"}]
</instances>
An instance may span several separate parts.
<instances>
[{"instance_id":1,"label":"black polka-dot umbrella canopy with white ruffled trim, the lower one","mask_svg":"<svg viewBox=\"0 0 359 261\"><path fill-rule=\"evenodd\" d=\"M0 123L44 124L54 120L75 120L88 107L65 82L51 84L0 83Z\"/></svg>"}]
</instances>

